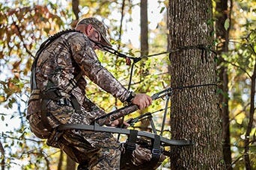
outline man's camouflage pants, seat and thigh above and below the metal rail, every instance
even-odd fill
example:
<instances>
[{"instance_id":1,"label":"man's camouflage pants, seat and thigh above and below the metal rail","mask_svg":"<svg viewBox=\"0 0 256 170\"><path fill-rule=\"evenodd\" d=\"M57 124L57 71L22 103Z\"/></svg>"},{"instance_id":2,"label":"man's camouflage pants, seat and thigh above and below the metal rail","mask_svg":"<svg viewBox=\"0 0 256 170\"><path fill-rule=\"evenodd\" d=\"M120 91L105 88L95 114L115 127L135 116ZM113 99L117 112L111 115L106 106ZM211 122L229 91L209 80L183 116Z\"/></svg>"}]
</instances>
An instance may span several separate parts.
<instances>
[{"instance_id":1,"label":"man's camouflage pants, seat and thigh above and below the metal rail","mask_svg":"<svg viewBox=\"0 0 256 170\"><path fill-rule=\"evenodd\" d=\"M61 106L55 101L47 104L48 120L52 127L60 124L90 125L95 117L105 114L95 105L88 107L90 112L82 108L76 113L72 106ZM94 109L94 110L92 110ZM72 160L79 163L79 169L120 169L120 143L111 133L87 130L64 130L51 133L39 126L40 113L28 117L31 131L40 138L47 136L47 145L60 148Z\"/></svg>"}]
</instances>

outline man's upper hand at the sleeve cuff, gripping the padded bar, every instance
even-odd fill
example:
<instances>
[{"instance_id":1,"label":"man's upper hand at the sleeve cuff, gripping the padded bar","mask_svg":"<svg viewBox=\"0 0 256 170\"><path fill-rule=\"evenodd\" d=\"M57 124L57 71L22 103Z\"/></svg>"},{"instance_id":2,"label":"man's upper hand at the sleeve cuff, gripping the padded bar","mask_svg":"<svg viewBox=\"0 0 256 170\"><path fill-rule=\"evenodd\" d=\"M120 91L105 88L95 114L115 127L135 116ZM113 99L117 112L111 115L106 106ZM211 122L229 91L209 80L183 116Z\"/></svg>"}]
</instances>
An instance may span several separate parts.
<instances>
[{"instance_id":1,"label":"man's upper hand at the sleeve cuff, gripping the padded bar","mask_svg":"<svg viewBox=\"0 0 256 170\"><path fill-rule=\"evenodd\" d=\"M132 100L132 104L138 105L140 110L149 107L152 104L152 98L146 94L138 93Z\"/></svg>"}]
</instances>

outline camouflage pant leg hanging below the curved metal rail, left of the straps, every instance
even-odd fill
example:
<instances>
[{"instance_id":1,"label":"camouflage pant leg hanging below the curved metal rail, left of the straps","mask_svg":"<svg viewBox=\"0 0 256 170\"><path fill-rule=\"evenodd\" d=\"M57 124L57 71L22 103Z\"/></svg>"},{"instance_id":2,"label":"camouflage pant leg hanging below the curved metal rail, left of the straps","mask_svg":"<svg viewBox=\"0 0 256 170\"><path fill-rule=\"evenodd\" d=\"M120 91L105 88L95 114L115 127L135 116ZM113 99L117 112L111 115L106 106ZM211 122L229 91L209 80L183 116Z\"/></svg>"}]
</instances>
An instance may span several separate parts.
<instances>
[{"instance_id":1,"label":"camouflage pant leg hanging below the curved metal rail, left of the straps","mask_svg":"<svg viewBox=\"0 0 256 170\"><path fill-rule=\"evenodd\" d=\"M58 139L58 147L79 163L79 169L120 169L121 151L115 138L109 133L77 132L65 131Z\"/></svg>"}]
</instances>

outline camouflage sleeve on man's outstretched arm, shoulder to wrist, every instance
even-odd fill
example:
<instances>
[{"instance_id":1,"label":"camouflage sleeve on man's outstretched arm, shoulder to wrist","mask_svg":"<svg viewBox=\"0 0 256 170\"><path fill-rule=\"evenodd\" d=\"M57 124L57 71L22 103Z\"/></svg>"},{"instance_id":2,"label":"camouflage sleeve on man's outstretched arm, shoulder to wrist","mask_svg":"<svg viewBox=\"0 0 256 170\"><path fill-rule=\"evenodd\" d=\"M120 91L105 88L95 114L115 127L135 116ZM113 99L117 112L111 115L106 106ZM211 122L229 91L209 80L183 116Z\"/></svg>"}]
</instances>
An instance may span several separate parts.
<instances>
[{"instance_id":1,"label":"camouflage sleeve on man's outstretched arm, shoulder to wrist","mask_svg":"<svg viewBox=\"0 0 256 170\"><path fill-rule=\"evenodd\" d=\"M126 101L130 92L100 64L88 38L83 34L74 34L69 42L73 59L85 72L85 75L115 98L122 102Z\"/></svg>"}]
</instances>

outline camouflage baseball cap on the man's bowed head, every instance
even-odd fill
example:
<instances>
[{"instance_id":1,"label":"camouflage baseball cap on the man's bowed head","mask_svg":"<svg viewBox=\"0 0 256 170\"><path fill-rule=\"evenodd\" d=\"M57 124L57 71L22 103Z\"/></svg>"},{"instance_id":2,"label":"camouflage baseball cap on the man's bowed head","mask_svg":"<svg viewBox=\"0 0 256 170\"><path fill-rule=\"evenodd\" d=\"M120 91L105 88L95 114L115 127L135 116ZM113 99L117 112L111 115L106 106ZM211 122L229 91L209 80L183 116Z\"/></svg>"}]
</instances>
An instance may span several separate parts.
<instances>
[{"instance_id":1,"label":"camouflage baseball cap on the man's bowed head","mask_svg":"<svg viewBox=\"0 0 256 170\"><path fill-rule=\"evenodd\" d=\"M100 22L98 19L94 17L90 17L82 19L77 23L77 25L81 24L92 25L97 31L100 32L100 36L102 37L100 43L102 43L103 45L112 46L109 40L107 40L106 38L106 26L103 24L103 22Z\"/></svg>"}]
</instances>

